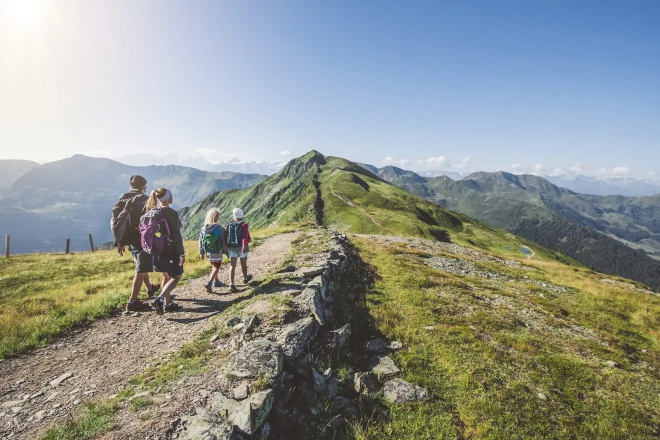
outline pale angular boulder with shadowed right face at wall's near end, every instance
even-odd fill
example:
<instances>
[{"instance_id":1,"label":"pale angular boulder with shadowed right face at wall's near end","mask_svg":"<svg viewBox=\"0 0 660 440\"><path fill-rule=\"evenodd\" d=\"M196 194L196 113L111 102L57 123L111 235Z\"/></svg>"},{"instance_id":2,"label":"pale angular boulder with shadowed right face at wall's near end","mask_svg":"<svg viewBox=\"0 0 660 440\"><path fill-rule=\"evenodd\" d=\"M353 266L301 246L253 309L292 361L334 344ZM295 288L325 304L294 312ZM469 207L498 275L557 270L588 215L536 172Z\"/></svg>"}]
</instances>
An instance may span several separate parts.
<instances>
[{"instance_id":1,"label":"pale angular boulder with shadowed right face at wall's near end","mask_svg":"<svg viewBox=\"0 0 660 440\"><path fill-rule=\"evenodd\" d=\"M254 393L245 400L227 398L221 393L209 396L209 414L221 417L234 425L238 431L253 435L259 431L273 407L274 392L272 389Z\"/></svg>"}]
</instances>

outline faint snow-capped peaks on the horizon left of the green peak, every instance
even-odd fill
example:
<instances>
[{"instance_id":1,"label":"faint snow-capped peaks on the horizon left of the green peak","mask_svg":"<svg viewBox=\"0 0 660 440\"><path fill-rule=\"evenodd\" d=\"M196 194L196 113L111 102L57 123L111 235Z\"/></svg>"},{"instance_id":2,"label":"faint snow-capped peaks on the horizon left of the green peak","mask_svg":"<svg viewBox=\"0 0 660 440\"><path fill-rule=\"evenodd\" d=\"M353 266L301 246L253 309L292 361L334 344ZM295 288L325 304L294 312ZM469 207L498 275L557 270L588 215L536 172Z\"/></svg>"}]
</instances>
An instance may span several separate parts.
<instances>
[{"instance_id":1,"label":"faint snow-capped peaks on the horizon left of the green peak","mask_svg":"<svg viewBox=\"0 0 660 440\"><path fill-rule=\"evenodd\" d=\"M183 157L178 154L166 154L165 156L156 156L151 153L131 154L129 156L120 156L114 158L117 162L132 166L147 165L178 165L197 168L198 170L209 172L234 172L247 174L271 175L282 169L282 162L260 161L242 161L238 158L232 158L226 162L212 162L201 157Z\"/></svg>"}]
</instances>

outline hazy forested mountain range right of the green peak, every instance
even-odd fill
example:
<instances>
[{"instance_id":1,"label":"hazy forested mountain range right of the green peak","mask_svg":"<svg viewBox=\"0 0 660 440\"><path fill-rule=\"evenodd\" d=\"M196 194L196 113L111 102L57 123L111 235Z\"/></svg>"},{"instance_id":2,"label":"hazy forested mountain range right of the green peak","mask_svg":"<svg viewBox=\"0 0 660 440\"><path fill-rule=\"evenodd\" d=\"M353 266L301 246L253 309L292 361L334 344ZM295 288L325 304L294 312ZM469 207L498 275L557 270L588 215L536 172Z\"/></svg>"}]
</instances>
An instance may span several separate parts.
<instances>
[{"instance_id":1,"label":"hazy forested mountain range right of the green peak","mask_svg":"<svg viewBox=\"0 0 660 440\"><path fill-rule=\"evenodd\" d=\"M660 194L586 195L537 175L506 172L477 172L454 181L393 166L376 171L415 195L560 251L595 270L643 282L658 276L660 286Z\"/></svg>"}]
</instances>

